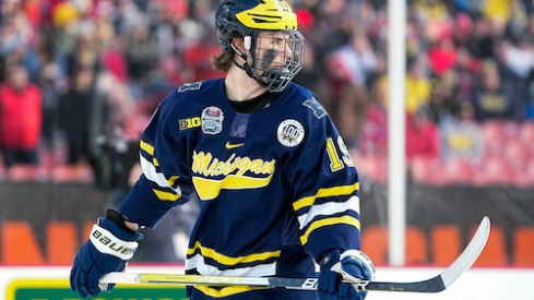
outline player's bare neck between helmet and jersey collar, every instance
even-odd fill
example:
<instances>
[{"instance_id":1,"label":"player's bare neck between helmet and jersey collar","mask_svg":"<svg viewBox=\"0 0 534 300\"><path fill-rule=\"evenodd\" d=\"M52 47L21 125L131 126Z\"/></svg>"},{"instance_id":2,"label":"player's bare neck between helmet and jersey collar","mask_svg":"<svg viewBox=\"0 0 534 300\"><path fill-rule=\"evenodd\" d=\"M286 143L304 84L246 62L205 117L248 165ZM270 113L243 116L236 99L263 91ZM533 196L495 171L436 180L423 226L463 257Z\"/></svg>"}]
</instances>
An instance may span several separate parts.
<instances>
[{"instance_id":1,"label":"player's bare neck between helmet and jersey collar","mask_svg":"<svg viewBox=\"0 0 534 300\"><path fill-rule=\"evenodd\" d=\"M226 96L234 101L246 101L265 93L253 79L249 77L242 70L232 67L225 79Z\"/></svg>"}]
</instances>

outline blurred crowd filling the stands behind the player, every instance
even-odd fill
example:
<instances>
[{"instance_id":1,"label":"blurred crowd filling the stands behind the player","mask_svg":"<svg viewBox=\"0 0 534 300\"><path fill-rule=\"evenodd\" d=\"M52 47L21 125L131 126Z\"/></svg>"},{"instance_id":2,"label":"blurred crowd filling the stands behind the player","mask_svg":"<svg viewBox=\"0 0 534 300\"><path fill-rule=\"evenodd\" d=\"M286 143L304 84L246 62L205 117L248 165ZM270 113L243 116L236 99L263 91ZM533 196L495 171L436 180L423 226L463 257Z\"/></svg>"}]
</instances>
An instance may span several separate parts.
<instances>
[{"instance_id":1,"label":"blurred crowd filling the stands behind the player","mask_svg":"<svg viewBox=\"0 0 534 300\"><path fill-rule=\"evenodd\" d=\"M24 177L16 167L34 165L40 180L120 184L121 154L157 103L181 83L224 75L210 62L219 52L218 2L1 1L0 178ZM288 2L307 39L296 82L324 103L364 177L383 181L388 1ZM407 4L412 178L533 185L533 1ZM450 177L432 179L446 169Z\"/></svg>"}]
</instances>

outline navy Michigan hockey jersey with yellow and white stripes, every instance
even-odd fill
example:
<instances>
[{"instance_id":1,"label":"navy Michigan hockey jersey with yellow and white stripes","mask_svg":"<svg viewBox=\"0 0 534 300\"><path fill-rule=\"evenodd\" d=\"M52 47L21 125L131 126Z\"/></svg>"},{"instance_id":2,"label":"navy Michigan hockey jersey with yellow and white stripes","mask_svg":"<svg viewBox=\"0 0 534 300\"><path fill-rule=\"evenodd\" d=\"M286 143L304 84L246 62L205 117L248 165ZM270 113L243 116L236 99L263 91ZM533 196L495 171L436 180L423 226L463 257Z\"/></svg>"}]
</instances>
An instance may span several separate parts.
<instances>
[{"instance_id":1,"label":"navy Michigan hockey jersey with yellow and white stripes","mask_svg":"<svg viewBox=\"0 0 534 300\"><path fill-rule=\"evenodd\" d=\"M223 79L176 88L143 133L141 165L121 205L128 219L154 227L198 195L187 273L307 277L327 251L359 249L356 168L320 101L297 84L253 113L230 106ZM192 299L250 299L249 290L195 287Z\"/></svg>"}]
</instances>

